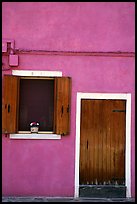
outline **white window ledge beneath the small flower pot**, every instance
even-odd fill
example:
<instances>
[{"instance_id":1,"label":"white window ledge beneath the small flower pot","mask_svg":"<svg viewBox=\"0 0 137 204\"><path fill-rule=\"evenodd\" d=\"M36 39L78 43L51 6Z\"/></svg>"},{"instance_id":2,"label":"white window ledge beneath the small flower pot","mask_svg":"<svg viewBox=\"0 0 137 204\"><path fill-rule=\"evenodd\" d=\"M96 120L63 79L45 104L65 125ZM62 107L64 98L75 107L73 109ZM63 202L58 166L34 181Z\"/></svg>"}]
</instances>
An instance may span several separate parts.
<instances>
[{"instance_id":1,"label":"white window ledge beneath the small flower pot","mask_svg":"<svg viewBox=\"0 0 137 204\"><path fill-rule=\"evenodd\" d=\"M61 135L56 135L56 134L10 134L10 139L37 139L37 140L42 140L42 139L61 139Z\"/></svg>"}]
</instances>

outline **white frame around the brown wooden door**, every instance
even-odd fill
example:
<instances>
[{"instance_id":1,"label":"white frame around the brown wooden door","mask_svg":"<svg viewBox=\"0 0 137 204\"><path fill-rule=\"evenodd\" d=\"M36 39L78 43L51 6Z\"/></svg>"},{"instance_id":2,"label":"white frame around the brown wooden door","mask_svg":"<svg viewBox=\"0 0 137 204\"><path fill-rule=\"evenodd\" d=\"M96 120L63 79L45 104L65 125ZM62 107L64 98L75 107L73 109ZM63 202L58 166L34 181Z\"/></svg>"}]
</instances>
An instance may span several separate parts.
<instances>
[{"instance_id":1,"label":"white frame around the brown wooden door","mask_svg":"<svg viewBox=\"0 0 137 204\"><path fill-rule=\"evenodd\" d=\"M79 197L80 159L80 116L82 99L123 99L126 100L126 144L125 144L125 186L126 197L131 197L131 93L82 93L77 92L76 141L75 141L75 184L74 197Z\"/></svg>"}]
</instances>

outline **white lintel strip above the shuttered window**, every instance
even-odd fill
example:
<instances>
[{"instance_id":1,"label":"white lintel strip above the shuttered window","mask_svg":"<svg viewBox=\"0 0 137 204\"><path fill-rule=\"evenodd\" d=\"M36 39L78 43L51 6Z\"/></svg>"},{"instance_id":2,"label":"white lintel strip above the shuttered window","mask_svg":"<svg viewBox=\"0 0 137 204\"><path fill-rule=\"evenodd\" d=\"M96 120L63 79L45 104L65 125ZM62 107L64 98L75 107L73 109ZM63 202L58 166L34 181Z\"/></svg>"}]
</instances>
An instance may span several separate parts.
<instances>
[{"instance_id":1,"label":"white lintel strip above the shuttered window","mask_svg":"<svg viewBox=\"0 0 137 204\"><path fill-rule=\"evenodd\" d=\"M61 77L61 71L39 71L39 70L12 70L12 75L16 76L45 76L45 77Z\"/></svg>"}]
</instances>

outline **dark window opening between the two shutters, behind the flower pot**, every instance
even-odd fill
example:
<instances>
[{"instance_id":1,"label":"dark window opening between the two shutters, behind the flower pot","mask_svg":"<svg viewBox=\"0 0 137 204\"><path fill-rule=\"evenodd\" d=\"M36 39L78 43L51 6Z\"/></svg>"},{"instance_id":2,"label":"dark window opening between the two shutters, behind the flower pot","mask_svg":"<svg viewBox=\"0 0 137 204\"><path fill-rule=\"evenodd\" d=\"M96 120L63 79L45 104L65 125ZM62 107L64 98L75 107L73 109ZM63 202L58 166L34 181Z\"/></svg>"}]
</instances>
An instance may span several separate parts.
<instances>
[{"instance_id":1,"label":"dark window opening between the two shutters, behind the flower pot","mask_svg":"<svg viewBox=\"0 0 137 204\"><path fill-rule=\"evenodd\" d=\"M30 131L39 122L39 131L53 131L54 79L21 79L19 131Z\"/></svg>"}]
</instances>

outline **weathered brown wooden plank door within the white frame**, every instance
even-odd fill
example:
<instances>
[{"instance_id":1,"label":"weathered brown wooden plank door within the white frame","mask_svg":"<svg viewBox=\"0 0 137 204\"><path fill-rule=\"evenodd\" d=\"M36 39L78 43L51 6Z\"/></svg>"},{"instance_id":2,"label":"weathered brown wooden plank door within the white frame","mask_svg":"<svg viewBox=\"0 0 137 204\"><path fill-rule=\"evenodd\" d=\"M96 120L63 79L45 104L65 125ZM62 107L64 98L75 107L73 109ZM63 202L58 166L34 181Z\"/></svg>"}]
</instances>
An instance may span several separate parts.
<instances>
[{"instance_id":1,"label":"weathered brown wooden plank door within the white frame","mask_svg":"<svg viewBox=\"0 0 137 204\"><path fill-rule=\"evenodd\" d=\"M125 100L81 101L80 184L124 184Z\"/></svg>"}]
</instances>

